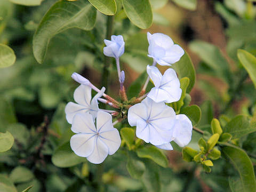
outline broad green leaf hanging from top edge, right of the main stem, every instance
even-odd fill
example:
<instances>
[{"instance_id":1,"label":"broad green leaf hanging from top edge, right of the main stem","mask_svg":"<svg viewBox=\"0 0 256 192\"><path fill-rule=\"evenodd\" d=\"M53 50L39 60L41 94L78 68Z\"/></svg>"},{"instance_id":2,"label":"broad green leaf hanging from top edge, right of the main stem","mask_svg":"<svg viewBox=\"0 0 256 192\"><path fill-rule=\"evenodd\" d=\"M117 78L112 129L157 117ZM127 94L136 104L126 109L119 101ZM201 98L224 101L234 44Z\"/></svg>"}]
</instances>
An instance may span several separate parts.
<instances>
[{"instance_id":1,"label":"broad green leaf hanging from top edge, right of the main stem","mask_svg":"<svg viewBox=\"0 0 256 192\"><path fill-rule=\"evenodd\" d=\"M146 29L152 25L153 13L149 0L123 0L123 7L135 26Z\"/></svg>"}]
</instances>

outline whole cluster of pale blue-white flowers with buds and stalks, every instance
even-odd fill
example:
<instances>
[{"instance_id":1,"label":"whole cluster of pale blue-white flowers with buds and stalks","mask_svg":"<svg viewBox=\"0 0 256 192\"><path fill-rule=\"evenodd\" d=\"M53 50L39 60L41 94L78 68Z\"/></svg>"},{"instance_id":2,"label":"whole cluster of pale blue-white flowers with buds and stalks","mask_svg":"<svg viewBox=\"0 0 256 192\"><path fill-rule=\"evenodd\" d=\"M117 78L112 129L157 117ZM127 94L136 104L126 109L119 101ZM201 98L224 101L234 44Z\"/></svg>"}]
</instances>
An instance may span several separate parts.
<instances>
[{"instance_id":1,"label":"whole cluster of pale blue-white flowers with buds and stalks","mask_svg":"<svg viewBox=\"0 0 256 192\"><path fill-rule=\"evenodd\" d=\"M119 57L124 53L125 45L121 35L111 36L111 41L105 39L106 47L103 48L106 56L116 60L120 102L105 94L105 87L99 90L83 76L77 73L71 76L81 84L74 92L76 103L69 102L65 108L67 121L72 124L71 130L76 133L70 139L70 146L78 156L99 164L107 155L113 155L121 145L119 132L114 125L126 118L131 126L136 126L138 138L158 148L172 150L171 141L184 147L191 140L193 126L190 119L183 114L176 115L173 108L166 105L180 100L182 90L177 74L169 68L162 75L156 67L156 63L170 66L179 61L184 51L167 35L148 33L147 36L148 57L153 58L153 65L147 66L148 78L138 98L127 100L125 93L125 74L119 66ZM155 87L146 93L150 79ZM98 92L93 99L92 89ZM98 101L115 110L99 109ZM117 119L114 123L112 116Z\"/></svg>"}]
</instances>

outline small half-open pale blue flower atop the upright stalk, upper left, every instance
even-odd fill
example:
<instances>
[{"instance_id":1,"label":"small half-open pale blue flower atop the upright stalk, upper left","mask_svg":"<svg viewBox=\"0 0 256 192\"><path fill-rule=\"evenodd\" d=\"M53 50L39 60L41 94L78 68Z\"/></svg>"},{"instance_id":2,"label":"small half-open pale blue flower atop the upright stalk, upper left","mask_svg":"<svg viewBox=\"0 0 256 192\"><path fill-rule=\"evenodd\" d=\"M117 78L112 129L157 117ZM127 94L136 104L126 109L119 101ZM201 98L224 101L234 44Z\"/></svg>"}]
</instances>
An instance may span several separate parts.
<instances>
[{"instance_id":1,"label":"small half-open pale blue flower atop the upright stalk, upper left","mask_svg":"<svg viewBox=\"0 0 256 192\"><path fill-rule=\"evenodd\" d=\"M122 35L112 35L111 41L104 39L104 43L107 45L103 47L103 53L106 56L117 59L124 54L124 39Z\"/></svg>"}]
</instances>

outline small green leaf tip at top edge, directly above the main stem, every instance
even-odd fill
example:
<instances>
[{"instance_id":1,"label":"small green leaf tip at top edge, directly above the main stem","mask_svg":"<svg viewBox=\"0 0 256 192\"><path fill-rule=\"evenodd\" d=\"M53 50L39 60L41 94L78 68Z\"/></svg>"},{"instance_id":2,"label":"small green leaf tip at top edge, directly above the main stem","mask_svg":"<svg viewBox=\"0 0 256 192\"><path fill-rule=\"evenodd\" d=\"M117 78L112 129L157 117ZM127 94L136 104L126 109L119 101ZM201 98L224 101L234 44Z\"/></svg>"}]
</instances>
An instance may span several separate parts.
<instances>
[{"instance_id":1,"label":"small green leaf tip at top edge, directly above the main stem","mask_svg":"<svg viewBox=\"0 0 256 192\"><path fill-rule=\"evenodd\" d=\"M106 15L116 13L115 0L88 0L97 10Z\"/></svg>"}]
</instances>

